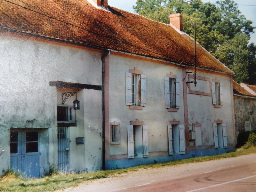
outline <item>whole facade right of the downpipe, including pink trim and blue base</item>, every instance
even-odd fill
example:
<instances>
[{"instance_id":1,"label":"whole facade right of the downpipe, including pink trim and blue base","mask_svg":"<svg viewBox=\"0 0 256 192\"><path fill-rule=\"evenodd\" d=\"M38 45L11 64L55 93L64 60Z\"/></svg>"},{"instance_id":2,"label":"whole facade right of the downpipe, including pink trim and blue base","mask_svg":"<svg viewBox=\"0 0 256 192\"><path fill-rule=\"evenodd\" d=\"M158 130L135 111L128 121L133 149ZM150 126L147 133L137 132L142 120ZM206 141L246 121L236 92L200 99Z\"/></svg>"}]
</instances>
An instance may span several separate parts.
<instances>
[{"instance_id":1,"label":"whole facade right of the downpipe, including pink trim and blue base","mask_svg":"<svg viewBox=\"0 0 256 192\"><path fill-rule=\"evenodd\" d=\"M120 65L123 63L123 65ZM131 109L125 104L125 73L139 70L147 77L147 105L142 110ZM235 122L233 92L230 82L232 76L197 72L197 86L187 84L192 76L186 74L189 68L182 68L164 62L123 56L112 52L109 56L109 114L106 126L106 168L123 168L138 164L170 161L193 156L220 154L235 146ZM172 74L180 81L179 109L165 108L164 77ZM223 103L212 104L212 82L222 83ZM107 84L107 82L105 82ZM185 90L185 92L184 92ZM148 126L148 157L129 158L127 125ZM120 124L120 140L111 144L111 124ZM215 149L213 124L226 124L227 146ZM184 155L169 155L168 125L185 125L186 152ZM134 127L135 128L135 127ZM189 138L189 132L196 132L196 139ZM136 136L135 136L136 137ZM174 136L173 136L174 137ZM177 142L177 141L176 141Z\"/></svg>"}]
</instances>

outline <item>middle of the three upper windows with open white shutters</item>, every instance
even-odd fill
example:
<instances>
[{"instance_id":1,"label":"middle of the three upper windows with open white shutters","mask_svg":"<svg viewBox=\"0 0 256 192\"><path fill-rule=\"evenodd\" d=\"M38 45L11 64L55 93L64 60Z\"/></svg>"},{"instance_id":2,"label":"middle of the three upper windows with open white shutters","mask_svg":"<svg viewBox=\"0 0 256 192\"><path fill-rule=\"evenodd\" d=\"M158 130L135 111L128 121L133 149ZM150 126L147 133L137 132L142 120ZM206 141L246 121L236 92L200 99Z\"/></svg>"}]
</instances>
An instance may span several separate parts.
<instances>
[{"instance_id":1,"label":"middle of the three upper windows with open white shutters","mask_svg":"<svg viewBox=\"0 0 256 192\"><path fill-rule=\"evenodd\" d=\"M178 109L180 107L180 79L164 78L165 108Z\"/></svg>"}]
</instances>

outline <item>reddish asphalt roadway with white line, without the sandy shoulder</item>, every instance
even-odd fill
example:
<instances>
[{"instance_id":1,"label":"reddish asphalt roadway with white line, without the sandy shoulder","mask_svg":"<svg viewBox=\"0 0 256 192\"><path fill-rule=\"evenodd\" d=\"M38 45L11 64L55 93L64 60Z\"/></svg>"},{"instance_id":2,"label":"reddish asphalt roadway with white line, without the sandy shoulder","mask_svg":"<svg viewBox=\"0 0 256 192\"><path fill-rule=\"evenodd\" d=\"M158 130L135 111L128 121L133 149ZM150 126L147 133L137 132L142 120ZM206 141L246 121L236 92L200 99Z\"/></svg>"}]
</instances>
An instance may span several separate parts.
<instances>
[{"instance_id":1,"label":"reddish asphalt roadway with white line, without the sandy shoulder","mask_svg":"<svg viewBox=\"0 0 256 192\"><path fill-rule=\"evenodd\" d=\"M256 160L256 159L255 159ZM117 190L118 192L255 192L256 163L234 166L180 179ZM116 191L116 192L117 192Z\"/></svg>"}]
</instances>

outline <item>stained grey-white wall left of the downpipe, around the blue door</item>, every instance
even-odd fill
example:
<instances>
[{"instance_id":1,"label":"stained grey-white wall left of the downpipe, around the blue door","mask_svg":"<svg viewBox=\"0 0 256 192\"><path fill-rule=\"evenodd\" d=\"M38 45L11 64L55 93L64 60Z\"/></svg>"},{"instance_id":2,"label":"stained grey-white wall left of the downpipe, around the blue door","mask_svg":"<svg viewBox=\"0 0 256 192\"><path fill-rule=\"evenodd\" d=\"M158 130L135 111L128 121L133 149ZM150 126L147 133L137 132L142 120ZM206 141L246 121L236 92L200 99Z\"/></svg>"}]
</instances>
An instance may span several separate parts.
<instances>
[{"instance_id":1,"label":"stained grey-white wall left of the downpipe, around the blue door","mask_svg":"<svg viewBox=\"0 0 256 192\"><path fill-rule=\"evenodd\" d=\"M42 174L47 161L56 164L58 159L59 95L49 81L102 85L102 52L14 35L0 34L0 149L5 150L0 152L0 174L10 166L10 128L43 128L40 146L47 154L40 156ZM81 109L76 112L77 127L70 127L70 168L74 171L101 168L101 95L101 91L78 90ZM67 102L73 104L71 100ZM88 137L87 124L97 130L92 136L97 142L91 145L85 139L84 144L76 145L76 137Z\"/></svg>"}]
</instances>

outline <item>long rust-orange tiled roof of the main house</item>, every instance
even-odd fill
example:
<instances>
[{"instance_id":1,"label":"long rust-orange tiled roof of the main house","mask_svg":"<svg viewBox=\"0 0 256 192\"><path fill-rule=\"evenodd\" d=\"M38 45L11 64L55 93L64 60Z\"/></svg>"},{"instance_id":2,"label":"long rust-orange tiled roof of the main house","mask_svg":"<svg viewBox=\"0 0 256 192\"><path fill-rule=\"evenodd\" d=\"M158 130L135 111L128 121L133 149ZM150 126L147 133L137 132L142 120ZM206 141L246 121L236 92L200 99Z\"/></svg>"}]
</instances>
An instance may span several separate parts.
<instances>
[{"instance_id":1,"label":"long rust-orange tiled roof of the main house","mask_svg":"<svg viewBox=\"0 0 256 192\"><path fill-rule=\"evenodd\" d=\"M0 0L0 27L193 65L193 40L170 25L86 0ZM197 66L234 74L197 45Z\"/></svg>"}]
</instances>

